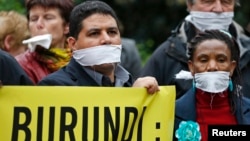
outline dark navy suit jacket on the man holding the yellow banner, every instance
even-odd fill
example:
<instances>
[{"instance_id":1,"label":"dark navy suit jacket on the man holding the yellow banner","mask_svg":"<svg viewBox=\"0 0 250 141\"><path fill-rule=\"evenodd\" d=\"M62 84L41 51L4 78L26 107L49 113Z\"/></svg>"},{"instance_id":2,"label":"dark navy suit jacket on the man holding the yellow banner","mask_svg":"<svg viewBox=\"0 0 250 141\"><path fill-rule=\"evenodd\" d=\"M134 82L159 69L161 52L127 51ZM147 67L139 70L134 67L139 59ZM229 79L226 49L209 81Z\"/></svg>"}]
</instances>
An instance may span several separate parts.
<instances>
[{"instance_id":1,"label":"dark navy suit jacket on the man holding the yellow banner","mask_svg":"<svg viewBox=\"0 0 250 141\"><path fill-rule=\"evenodd\" d=\"M132 78L130 77L124 87L130 87L132 84ZM68 65L49 74L38 85L100 86L73 58Z\"/></svg>"}]
</instances>

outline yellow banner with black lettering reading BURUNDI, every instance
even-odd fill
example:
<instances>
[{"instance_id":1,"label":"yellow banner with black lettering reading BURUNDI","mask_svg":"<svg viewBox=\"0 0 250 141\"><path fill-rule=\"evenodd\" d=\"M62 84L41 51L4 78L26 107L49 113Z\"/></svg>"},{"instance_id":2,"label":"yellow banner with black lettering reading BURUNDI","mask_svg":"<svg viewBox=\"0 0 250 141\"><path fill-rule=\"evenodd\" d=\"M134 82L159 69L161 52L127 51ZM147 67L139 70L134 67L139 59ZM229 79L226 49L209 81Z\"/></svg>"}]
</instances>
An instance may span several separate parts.
<instances>
[{"instance_id":1,"label":"yellow banner with black lettering reading BURUNDI","mask_svg":"<svg viewBox=\"0 0 250 141\"><path fill-rule=\"evenodd\" d=\"M170 141L174 106L174 86L3 86L0 141Z\"/></svg>"}]
</instances>

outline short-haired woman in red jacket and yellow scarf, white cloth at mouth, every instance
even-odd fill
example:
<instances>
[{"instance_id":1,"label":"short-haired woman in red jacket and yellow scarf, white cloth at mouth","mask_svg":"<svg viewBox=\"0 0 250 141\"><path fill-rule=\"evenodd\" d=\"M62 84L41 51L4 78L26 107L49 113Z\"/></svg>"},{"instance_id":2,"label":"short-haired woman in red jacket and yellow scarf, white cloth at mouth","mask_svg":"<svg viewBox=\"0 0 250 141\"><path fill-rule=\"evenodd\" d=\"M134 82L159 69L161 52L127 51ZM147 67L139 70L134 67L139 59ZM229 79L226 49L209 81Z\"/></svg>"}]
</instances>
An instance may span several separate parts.
<instances>
[{"instance_id":1,"label":"short-haired woman in red jacket and yellow scarf, white cloth at mouth","mask_svg":"<svg viewBox=\"0 0 250 141\"><path fill-rule=\"evenodd\" d=\"M69 15L73 7L73 0L26 1L33 42L28 44L29 50L16 56L16 59L35 84L68 64L71 58L71 49L66 39L69 33ZM43 37L43 42L37 36Z\"/></svg>"}]
</instances>

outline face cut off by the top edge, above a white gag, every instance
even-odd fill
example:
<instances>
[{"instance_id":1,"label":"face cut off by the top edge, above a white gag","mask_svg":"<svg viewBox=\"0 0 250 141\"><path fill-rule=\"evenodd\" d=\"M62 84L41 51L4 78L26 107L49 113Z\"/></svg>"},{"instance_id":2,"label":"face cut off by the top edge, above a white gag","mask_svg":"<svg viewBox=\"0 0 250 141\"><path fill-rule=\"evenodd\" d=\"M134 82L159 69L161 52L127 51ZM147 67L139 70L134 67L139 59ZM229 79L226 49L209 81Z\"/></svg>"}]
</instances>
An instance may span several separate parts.
<instances>
[{"instance_id":1,"label":"face cut off by the top edge, above a white gag","mask_svg":"<svg viewBox=\"0 0 250 141\"><path fill-rule=\"evenodd\" d=\"M195 0L194 3L187 3L189 11L202 12L232 12L234 11L235 0Z\"/></svg>"}]
</instances>

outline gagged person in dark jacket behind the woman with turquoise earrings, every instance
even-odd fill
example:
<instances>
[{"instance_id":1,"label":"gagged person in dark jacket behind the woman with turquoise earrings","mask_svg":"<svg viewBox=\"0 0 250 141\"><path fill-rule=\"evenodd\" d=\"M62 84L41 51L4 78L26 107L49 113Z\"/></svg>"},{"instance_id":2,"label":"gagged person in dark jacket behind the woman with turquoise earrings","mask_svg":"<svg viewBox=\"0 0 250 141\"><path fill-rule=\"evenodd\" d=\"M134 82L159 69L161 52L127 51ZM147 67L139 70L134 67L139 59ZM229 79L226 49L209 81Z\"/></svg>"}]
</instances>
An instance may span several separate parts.
<instances>
[{"instance_id":1,"label":"gagged person in dark jacket behind the woman with turquoise earrings","mask_svg":"<svg viewBox=\"0 0 250 141\"><path fill-rule=\"evenodd\" d=\"M176 77L189 71L187 43L206 29L223 29L234 36L240 47L239 67L243 76L243 93L250 97L250 37L233 21L239 0L186 0L189 15L173 30L172 35L154 51L146 62L141 76L154 76L159 85L175 85L177 98L190 87L192 81Z\"/></svg>"}]
</instances>

